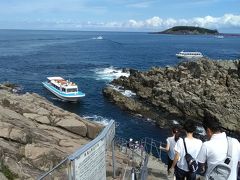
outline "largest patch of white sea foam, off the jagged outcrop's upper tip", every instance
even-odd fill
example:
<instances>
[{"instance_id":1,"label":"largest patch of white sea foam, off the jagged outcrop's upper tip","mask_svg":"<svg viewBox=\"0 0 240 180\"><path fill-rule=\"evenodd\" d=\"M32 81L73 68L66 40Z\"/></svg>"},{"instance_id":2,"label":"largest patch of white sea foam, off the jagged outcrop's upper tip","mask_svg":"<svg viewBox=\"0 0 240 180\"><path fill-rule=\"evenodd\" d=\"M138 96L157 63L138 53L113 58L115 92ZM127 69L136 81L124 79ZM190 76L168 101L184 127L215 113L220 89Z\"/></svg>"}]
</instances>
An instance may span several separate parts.
<instances>
[{"instance_id":1,"label":"largest patch of white sea foam, off the jagged outcrop's upper tip","mask_svg":"<svg viewBox=\"0 0 240 180\"><path fill-rule=\"evenodd\" d=\"M95 70L97 75L97 80L106 80L112 81L113 79L117 79L120 76L128 77L130 75L129 72L123 72L122 69L115 68L113 66L107 68L98 68Z\"/></svg>"}]
</instances>

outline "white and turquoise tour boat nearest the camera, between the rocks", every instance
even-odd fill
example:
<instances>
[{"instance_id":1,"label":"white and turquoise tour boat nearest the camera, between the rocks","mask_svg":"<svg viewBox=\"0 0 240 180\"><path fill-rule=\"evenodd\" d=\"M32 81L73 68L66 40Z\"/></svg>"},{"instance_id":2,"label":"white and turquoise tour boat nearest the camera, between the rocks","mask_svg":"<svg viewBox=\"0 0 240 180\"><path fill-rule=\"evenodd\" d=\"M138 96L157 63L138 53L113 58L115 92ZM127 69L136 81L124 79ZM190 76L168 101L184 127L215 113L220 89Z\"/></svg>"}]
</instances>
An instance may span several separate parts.
<instances>
[{"instance_id":1,"label":"white and turquoise tour boat nearest the camera, between the rocks","mask_svg":"<svg viewBox=\"0 0 240 180\"><path fill-rule=\"evenodd\" d=\"M78 101L85 93L78 91L78 86L62 77L47 77L47 82L42 82L43 86L50 92L65 101Z\"/></svg>"}]
</instances>

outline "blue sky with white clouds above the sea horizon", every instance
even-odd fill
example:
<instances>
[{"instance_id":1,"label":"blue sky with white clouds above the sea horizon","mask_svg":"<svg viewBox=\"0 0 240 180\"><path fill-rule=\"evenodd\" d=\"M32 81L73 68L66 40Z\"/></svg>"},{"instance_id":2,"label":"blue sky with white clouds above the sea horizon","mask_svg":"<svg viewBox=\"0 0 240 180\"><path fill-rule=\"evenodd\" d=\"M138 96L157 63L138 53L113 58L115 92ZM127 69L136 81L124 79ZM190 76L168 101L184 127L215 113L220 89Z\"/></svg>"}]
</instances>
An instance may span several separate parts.
<instances>
[{"instance_id":1,"label":"blue sky with white clouds above the sea horizon","mask_svg":"<svg viewBox=\"0 0 240 180\"><path fill-rule=\"evenodd\" d=\"M0 29L240 33L240 0L0 0Z\"/></svg>"}]
</instances>

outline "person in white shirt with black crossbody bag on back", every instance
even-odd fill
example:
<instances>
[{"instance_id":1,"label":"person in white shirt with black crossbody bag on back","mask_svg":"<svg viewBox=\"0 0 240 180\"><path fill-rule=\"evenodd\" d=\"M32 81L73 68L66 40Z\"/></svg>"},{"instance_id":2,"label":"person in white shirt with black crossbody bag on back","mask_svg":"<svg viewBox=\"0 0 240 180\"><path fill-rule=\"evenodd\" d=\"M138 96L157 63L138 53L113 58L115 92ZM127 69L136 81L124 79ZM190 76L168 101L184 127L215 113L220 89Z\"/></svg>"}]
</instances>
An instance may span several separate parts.
<instances>
[{"instance_id":1,"label":"person in white shirt with black crossbody bag on back","mask_svg":"<svg viewBox=\"0 0 240 180\"><path fill-rule=\"evenodd\" d=\"M195 180L196 171L198 169L195 158L197 157L202 141L193 137L193 133L196 130L195 123L193 121L186 121L183 126L186 131L186 137L181 138L175 145L175 157L173 160L170 172L175 168L176 180Z\"/></svg>"}]
</instances>

